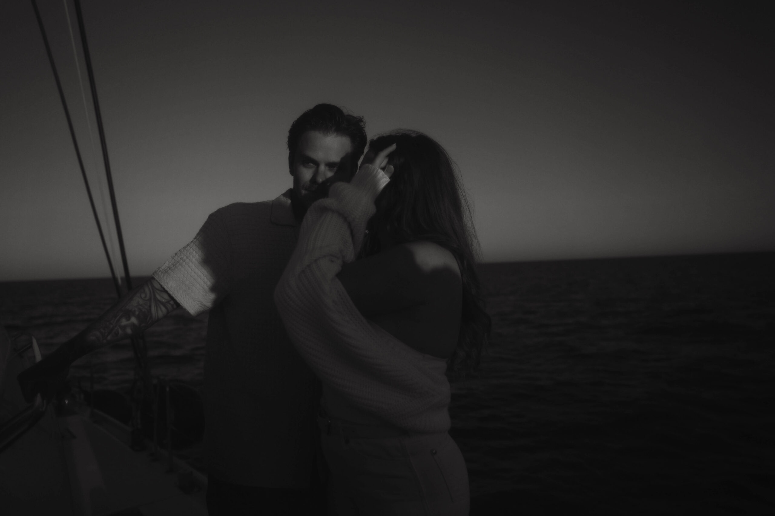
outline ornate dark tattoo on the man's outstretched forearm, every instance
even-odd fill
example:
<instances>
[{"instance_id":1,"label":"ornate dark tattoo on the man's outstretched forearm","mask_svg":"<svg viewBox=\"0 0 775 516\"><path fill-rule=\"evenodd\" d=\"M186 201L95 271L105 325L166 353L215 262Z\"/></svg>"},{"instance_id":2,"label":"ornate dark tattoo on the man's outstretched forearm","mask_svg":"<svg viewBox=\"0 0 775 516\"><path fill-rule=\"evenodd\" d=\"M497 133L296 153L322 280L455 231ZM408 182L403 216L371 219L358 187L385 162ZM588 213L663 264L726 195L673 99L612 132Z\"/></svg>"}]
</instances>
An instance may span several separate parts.
<instances>
[{"instance_id":1,"label":"ornate dark tattoo on the man's outstretched forearm","mask_svg":"<svg viewBox=\"0 0 775 516\"><path fill-rule=\"evenodd\" d=\"M132 337L149 328L178 306L155 279L143 283L119 300L84 334L89 350Z\"/></svg>"}]
</instances>

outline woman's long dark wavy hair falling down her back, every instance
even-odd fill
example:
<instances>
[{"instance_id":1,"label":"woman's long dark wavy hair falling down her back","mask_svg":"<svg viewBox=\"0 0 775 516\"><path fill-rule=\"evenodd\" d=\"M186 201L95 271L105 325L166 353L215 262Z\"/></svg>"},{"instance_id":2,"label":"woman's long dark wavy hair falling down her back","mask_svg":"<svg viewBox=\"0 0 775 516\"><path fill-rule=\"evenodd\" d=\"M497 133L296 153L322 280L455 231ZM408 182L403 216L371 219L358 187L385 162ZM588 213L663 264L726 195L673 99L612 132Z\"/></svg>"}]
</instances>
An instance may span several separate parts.
<instances>
[{"instance_id":1,"label":"woman's long dark wavy hair falling down her back","mask_svg":"<svg viewBox=\"0 0 775 516\"><path fill-rule=\"evenodd\" d=\"M439 143L421 132L399 129L371 140L369 150L380 152L394 143L388 159L394 172L374 201L377 213L367 225L360 256L379 252L380 231L398 244L432 241L452 252L463 281L463 310L447 374L452 380L465 378L479 367L491 326L475 268L479 248L470 206L453 161Z\"/></svg>"}]
</instances>

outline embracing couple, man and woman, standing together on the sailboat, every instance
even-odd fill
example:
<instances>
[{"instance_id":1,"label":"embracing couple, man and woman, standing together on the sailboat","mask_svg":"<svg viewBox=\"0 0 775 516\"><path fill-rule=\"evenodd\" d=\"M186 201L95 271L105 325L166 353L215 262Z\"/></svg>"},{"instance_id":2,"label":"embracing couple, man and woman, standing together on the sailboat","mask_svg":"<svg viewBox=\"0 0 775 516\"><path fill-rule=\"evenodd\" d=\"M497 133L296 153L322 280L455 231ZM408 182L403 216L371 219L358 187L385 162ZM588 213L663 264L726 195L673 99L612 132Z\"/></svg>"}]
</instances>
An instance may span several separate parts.
<instances>
[{"instance_id":1,"label":"embracing couple, man and woman, standing together on the sailboat","mask_svg":"<svg viewBox=\"0 0 775 516\"><path fill-rule=\"evenodd\" d=\"M26 396L178 306L209 310L212 516L468 514L446 374L476 367L490 327L470 213L432 138L366 147L363 118L305 111L288 132L293 188L216 210L153 279L22 373Z\"/></svg>"}]
</instances>

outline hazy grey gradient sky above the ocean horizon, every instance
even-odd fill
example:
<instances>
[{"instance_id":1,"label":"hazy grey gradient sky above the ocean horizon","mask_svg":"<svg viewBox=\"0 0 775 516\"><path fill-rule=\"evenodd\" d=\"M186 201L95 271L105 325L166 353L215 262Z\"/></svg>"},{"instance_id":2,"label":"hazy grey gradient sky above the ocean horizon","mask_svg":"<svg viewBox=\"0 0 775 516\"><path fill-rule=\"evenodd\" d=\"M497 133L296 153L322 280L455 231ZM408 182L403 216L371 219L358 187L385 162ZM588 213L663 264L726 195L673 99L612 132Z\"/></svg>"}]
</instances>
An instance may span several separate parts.
<instances>
[{"instance_id":1,"label":"hazy grey gradient sky above the ocean horizon","mask_svg":"<svg viewBox=\"0 0 775 516\"><path fill-rule=\"evenodd\" d=\"M82 0L130 272L289 188L319 102L436 138L482 261L775 250L765 13L634 3ZM74 5L39 5L119 264ZM0 49L0 281L108 276L30 2Z\"/></svg>"}]
</instances>

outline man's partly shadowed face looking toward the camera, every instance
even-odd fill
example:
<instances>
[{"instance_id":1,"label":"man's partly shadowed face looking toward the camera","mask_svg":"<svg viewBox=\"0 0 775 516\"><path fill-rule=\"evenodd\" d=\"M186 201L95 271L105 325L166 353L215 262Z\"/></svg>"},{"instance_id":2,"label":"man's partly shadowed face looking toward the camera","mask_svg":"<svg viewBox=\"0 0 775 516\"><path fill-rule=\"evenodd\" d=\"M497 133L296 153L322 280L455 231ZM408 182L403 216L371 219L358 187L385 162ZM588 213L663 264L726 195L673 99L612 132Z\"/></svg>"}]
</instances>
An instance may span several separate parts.
<instances>
[{"instance_id":1,"label":"man's partly shadowed face looking toward the camera","mask_svg":"<svg viewBox=\"0 0 775 516\"><path fill-rule=\"evenodd\" d=\"M321 183L350 181L353 177L353 142L343 135L308 131L301 135L291 159L293 188L308 208L325 195Z\"/></svg>"}]
</instances>

